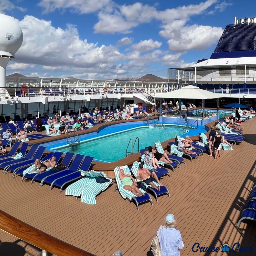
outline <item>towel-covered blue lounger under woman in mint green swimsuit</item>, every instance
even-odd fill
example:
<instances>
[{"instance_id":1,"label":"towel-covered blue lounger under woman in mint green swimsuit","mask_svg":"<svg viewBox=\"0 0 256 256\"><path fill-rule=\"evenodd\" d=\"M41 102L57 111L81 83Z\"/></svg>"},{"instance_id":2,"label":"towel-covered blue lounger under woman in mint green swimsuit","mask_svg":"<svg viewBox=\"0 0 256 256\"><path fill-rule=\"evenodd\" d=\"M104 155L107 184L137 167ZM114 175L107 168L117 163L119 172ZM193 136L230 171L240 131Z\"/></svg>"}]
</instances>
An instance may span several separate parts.
<instances>
[{"instance_id":1,"label":"towel-covered blue lounger under woman in mint green swimsuit","mask_svg":"<svg viewBox=\"0 0 256 256\"><path fill-rule=\"evenodd\" d=\"M121 169L124 170L124 174L131 175L131 172L130 172L130 170L129 170L127 165L121 166ZM129 201L134 200L138 210L139 210L139 204L143 204L143 203L145 203L147 201L150 201L151 205L153 205L153 202L152 202L152 199L151 199L150 195L148 195L148 193L146 193L146 191L144 191L143 189L140 188L141 192L144 193L145 196L138 197L138 196L135 196L131 191L126 190L126 189L123 188L122 181L121 181L121 179L119 177L118 167L116 167L114 169L114 173L115 173L115 181L116 181L115 191L118 190L120 195L124 199L128 199Z\"/></svg>"}]
</instances>

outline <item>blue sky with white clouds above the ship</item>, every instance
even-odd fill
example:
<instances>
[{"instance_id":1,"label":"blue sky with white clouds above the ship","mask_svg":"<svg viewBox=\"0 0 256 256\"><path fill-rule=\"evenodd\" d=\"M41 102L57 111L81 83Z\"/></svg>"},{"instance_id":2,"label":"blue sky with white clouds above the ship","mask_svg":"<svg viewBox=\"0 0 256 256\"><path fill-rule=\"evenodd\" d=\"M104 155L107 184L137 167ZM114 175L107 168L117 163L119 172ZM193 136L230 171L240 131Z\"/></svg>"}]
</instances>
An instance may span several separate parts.
<instances>
[{"instance_id":1,"label":"blue sky with white clouds above the ship","mask_svg":"<svg viewBox=\"0 0 256 256\"><path fill-rule=\"evenodd\" d=\"M152 73L165 78L167 67L209 58L234 16L256 16L248 4L0 0L0 13L16 18L24 35L7 74L112 79Z\"/></svg>"}]
</instances>

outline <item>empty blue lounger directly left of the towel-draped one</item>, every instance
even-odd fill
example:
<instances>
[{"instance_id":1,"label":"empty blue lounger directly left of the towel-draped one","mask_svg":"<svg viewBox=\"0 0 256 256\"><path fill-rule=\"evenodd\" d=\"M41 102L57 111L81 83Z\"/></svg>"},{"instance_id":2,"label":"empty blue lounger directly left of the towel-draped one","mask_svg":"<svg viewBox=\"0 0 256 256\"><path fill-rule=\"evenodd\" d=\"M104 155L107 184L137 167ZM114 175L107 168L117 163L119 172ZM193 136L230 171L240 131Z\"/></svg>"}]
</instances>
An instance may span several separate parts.
<instances>
[{"instance_id":1,"label":"empty blue lounger directly left of the towel-draped one","mask_svg":"<svg viewBox=\"0 0 256 256\"><path fill-rule=\"evenodd\" d=\"M84 160L83 160L83 163L80 166L80 170L83 170L85 172L89 171L93 159L94 159L94 157L85 156ZM73 182L77 179L82 178L81 172L79 172L78 170L71 169L71 166L70 166L69 169L67 169L63 172L59 172L58 174L59 175L56 175L55 180L51 183L50 190L52 189L53 186L58 187L58 188L60 188L60 193L62 191L62 188L67 183L70 183L70 182ZM57 177L57 176L59 176L59 177Z\"/></svg>"}]
</instances>

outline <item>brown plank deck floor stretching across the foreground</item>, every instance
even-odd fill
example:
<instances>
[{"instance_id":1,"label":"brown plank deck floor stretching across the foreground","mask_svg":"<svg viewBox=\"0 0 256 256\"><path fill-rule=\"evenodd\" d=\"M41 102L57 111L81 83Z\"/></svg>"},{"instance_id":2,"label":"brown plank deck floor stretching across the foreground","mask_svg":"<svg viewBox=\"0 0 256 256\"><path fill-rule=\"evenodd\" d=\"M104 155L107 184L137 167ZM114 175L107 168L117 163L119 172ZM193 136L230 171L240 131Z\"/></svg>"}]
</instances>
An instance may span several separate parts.
<instances>
[{"instance_id":1,"label":"brown plank deck floor stretching across the foreground","mask_svg":"<svg viewBox=\"0 0 256 256\"><path fill-rule=\"evenodd\" d=\"M256 181L256 118L242 124L246 140L222 151L222 157L207 155L193 162L186 161L181 169L164 177L162 183L171 198L162 196L158 202L140 206L122 199L114 192L114 184L97 197L97 205L83 204L72 196L59 194L49 186L20 183L11 174L0 175L1 209L28 224L63 241L96 255L111 255L120 249L124 255L146 255L151 240L168 213L177 220L184 241L181 255L209 255L193 252L200 246L253 246L256 238L254 223L235 226L240 210ZM0 231L0 255L35 255L37 248ZM212 253L215 255L216 253ZM227 255L221 250L218 255ZM239 254L230 252L230 255ZM245 253L241 253L245 254ZM256 246L246 255L256 255Z\"/></svg>"}]
</instances>

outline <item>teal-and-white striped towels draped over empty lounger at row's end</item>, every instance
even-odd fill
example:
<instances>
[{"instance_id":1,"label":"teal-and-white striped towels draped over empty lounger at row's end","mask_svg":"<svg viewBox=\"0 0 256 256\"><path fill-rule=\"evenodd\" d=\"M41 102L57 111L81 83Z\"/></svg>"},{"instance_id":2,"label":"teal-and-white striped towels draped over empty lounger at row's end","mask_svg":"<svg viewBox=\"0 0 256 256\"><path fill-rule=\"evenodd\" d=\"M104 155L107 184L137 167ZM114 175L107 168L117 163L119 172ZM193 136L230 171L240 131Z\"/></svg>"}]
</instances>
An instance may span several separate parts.
<instances>
[{"instance_id":1,"label":"teal-and-white striped towels draped over empty lounger at row's end","mask_svg":"<svg viewBox=\"0 0 256 256\"><path fill-rule=\"evenodd\" d=\"M81 202L95 205L96 196L109 187L112 179L107 177L105 173L95 172L94 170L91 172L81 172L81 174L84 174L84 177L69 185L66 188L65 196L76 196L76 199L81 197ZM97 183L96 179L98 177L104 177L108 182Z\"/></svg>"}]
</instances>

